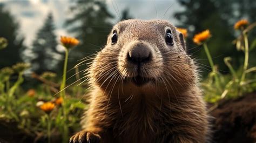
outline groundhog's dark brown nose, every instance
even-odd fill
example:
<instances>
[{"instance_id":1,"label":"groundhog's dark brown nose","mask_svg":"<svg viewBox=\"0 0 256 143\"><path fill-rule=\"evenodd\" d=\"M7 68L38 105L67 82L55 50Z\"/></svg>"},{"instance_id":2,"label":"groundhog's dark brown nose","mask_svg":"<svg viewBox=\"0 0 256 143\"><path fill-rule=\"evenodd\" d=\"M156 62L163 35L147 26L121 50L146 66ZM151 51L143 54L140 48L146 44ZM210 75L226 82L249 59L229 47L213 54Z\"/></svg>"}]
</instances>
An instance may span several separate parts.
<instances>
[{"instance_id":1,"label":"groundhog's dark brown nose","mask_svg":"<svg viewBox=\"0 0 256 143\"><path fill-rule=\"evenodd\" d=\"M127 58L134 64L149 62L151 59L151 50L146 45L139 43L128 50Z\"/></svg>"}]
</instances>

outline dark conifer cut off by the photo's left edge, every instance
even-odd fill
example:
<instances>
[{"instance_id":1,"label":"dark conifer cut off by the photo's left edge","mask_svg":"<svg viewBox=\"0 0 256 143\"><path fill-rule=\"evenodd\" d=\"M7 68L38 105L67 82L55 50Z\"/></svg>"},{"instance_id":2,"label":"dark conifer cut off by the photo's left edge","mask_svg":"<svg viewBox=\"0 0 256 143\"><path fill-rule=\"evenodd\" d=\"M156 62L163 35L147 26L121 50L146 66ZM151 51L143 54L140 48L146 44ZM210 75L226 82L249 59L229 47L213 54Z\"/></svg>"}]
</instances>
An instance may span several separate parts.
<instances>
[{"instance_id":1,"label":"dark conifer cut off by the photo's left edge","mask_svg":"<svg viewBox=\"0 0 256 143\"><path fill-rule=\"evenodd\" d=\"M0 3L0 37L8 40L8 46L0 51L0 69L11 66L21 60L20 50L22 49L24 38L18 35L19 24L15 18L4 9Z\"/></svg>"}]
</instances>

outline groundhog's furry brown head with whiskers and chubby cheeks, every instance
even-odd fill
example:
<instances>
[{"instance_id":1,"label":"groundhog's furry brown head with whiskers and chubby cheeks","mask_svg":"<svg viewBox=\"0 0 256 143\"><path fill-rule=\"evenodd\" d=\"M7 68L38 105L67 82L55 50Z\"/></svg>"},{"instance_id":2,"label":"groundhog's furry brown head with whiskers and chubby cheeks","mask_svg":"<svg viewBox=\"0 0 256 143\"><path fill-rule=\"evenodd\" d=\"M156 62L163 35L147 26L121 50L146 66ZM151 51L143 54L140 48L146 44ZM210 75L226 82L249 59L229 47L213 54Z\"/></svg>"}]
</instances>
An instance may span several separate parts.
<instances>
[{"instance_id":1,"label":"groundhog's furry brown head with whiskers and chubby cheeks","mask_svg":"<svg viewBox=\"0 0 256 143\"><path fill-rule=\"evenodd\" d=\"M93 85L111 92L170 93L195 84L195 71L183 35L172 24L131 19L113 26L89 75Z\"/></svg>"}]
</instances>

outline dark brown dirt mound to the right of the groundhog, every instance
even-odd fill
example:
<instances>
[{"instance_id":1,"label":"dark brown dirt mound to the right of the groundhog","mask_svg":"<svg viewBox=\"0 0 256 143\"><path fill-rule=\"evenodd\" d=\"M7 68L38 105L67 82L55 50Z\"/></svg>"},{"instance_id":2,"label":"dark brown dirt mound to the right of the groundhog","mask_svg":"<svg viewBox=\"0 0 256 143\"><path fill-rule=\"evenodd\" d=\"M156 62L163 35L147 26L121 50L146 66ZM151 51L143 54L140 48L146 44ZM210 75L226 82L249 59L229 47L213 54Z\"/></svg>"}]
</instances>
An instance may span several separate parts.
<instances>
[{"instance_id":1,"label":"dark brown dirt mound to the right of the groundhog","mask_svg":"<svg viewBox=\"0 0 256 143\"><path fill-rule=\"evenodd\" d=\"M256 93L220 101L210 114L214 142L256 142Z\"/></svg>"}]
</instances>

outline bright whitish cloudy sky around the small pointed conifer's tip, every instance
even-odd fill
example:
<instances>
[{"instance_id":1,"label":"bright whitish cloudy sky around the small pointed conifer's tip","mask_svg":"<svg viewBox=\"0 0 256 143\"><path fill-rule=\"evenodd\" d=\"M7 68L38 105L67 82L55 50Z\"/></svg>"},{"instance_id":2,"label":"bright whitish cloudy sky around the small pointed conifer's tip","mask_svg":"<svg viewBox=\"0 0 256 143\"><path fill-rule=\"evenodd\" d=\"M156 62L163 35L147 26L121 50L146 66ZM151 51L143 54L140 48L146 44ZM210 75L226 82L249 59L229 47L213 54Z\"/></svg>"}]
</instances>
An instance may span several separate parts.
<instances>
[{"instance_id":1,"label":"bright whitish cloudy sky around the small pointed conifer's tip","mask_svg":"<svg viewBox=\"0 0 256 143\"><path fill-rule=\"evenodd\" d=\"M28 0L28 1L4 1L6 9L10 10L12 15L17 18L21 24L20 30L25 36L25 45L31 46L35 39L37 31L43 26L44 20L49 12L52 12L56 26L56 34L67 35L63 29L65 15L69 10L69 1L46 1L46 0Z\"/></svg>"}]
</instances>

